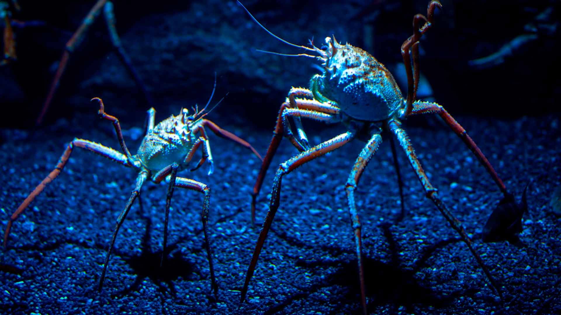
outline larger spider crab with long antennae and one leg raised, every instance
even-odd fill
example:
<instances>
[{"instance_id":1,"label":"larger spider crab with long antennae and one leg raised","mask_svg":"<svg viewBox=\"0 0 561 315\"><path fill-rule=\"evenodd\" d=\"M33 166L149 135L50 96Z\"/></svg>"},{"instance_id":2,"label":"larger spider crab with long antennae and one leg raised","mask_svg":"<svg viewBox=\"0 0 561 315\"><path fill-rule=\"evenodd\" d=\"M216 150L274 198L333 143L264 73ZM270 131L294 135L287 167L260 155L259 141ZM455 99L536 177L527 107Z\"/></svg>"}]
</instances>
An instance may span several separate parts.
<instances>
[{"instance_id":1,"label":"larger spider crab with long antennae and one leg raised","mask_svg":"<svg viewBox=\"0 0 561 315\"><path fill-rule=\"evenodd\" d=\"M238 1L238 3L240 3ZM240 3L241 4L241 3ZM241 4L242 5L242 4ZM242 5L243 7L243 5ZM265 242L267 233L273 222L273 218L279 207L280 184L284 175L292 172L298 166L305 164L318 156L342 147L354 138L366 141L366 146L360 152L355 161L351 173L347 179L345 191L347 194L348 210L351 217L351 225L354 231L356 257L358 261L358 276L360 278L361 304L366 314L366 296L364 267L362 263L361 223L355 206L355 190L367 163L372 158L381 143L381 132L388 130L392 132L399 145L407 154L413 170L425 189L426 197L432 200L438 210L442 213L448 223L458 232L462 240L467 244L477 263L481 266L491 285L499 294L493 276L484 265L481 257L472 246L465 229L456 217L450 213L448 208L439 197L438 191L429 181L421 167L419 159L413 150L413 146L402 128L402 121L410 115L436 113L443 118L444 122L466 143L467 147L475 154L480 163L491 175L500 191L504 194L504 200L513 202L512 194L507 192L503 181L499 178L489 160L481 152L476 143L468 136L465 129L439 104L429 101L416 100L416 91L419 84L419 40L427 30L430 29L436 8L442 5L438 0L432 0L427 7L427 16L417 14L413 17L413 35L408 38L401 47L401 54L407 72L407 96L403 97L392 74L378 62L372 55L358 47L350 44L339 44L333 37L325 39L323 48L315 47L310 41L310 47L289 43L271 33L261 25L255 17L244 7L251 18L265 31L275 38L293 47L307 50L307 53L293 54L291 56L304 56L318 59L322 62L323 73L314 75L310 80L310 89L292 87L288 97L280 106L277 124L273 132L273 138L261 165L261 170L252 193L251 209L255 212L255 199L273 155L277 151L283 136L300 151L293 158L281 163L273 180L272 196L270 198L269 210L266 214L263 229L251 258L247 270L245 283L241 291L241 301L245 300L249 281L254 274L257 259ZM271 52L268 52L271 53ZM287 55L274 53L279 55ZM297 128L297 136L291 130L288 118L291 117ZM302 129L300 118L316 119L326 123L343 123L347 132L335 136L330 140L310 147Z\"/></svg>"}]
</instances>

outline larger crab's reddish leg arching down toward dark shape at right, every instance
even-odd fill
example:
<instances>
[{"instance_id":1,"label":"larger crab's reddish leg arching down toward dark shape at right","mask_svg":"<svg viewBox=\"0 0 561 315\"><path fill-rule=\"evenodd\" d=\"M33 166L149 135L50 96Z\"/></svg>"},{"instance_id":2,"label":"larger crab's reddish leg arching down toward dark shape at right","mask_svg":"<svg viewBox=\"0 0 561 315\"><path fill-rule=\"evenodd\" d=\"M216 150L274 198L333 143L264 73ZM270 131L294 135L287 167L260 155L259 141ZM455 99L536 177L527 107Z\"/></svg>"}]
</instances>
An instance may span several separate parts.
<instances>
[{"instance_id":1,"label":"larger crab's reddish leg arching down toward dark shape at right","mask_svg":"<svg viewBox=\"0 0 561 315\"><path fill-rule=\"evenodd\" d=\"M499 178L499 175L495 172L489 160L485 157L483 152L477 147L475 142L471 139L471 137L467 134L466 129L464 129L457 121L454 119L448 112L439 104L425 102L425 101L416 101L413 103L413 112L412 114L426 114L426 113L436 113L439 114L442 119L448 124L450 128L456 135L462 138L463 142L466 143L467 147L475 154L481 165L487 170L489 175L493 178L497 186L499 186L500 191L504 194L505 197L509 196L507 192L507 187L504 186L503 180Z\"/></svg>"}]
</instances>

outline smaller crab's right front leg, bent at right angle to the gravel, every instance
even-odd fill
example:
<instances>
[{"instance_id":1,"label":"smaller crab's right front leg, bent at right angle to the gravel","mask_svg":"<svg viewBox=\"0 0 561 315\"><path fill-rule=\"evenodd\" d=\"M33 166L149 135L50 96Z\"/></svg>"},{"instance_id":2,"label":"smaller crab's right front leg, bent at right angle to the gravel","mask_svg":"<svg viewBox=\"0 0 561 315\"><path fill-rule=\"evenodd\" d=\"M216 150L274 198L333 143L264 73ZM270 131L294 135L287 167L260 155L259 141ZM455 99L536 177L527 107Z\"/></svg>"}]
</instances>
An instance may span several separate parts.
<instances>
[{"instance_id":1,"label":"smaller crab's right front leg, bent at right angle to the gravel","mask_svg":"<svg viewBox=\"0 0 561 315\"><path fill-rule=\"evenodd\" d=\"M212 262L212 249L210 248L210 241L209 241L209 207L210 207L210 188L201 182L197 182L196 180L177 177L176 178L176 187L180 188L187 188L192 189L197 192L201 192L204 194L203 197L203 211L201 212L201 221L203 221L203 231L205 233L205 244L206 244L206 256L209 260L209 270L210 270L210 280L212 281L212 286L214 289L214 294L218 293L218 285L216 283L216 279L214 278L214 265Z\"/></svg>"}]
</instances>

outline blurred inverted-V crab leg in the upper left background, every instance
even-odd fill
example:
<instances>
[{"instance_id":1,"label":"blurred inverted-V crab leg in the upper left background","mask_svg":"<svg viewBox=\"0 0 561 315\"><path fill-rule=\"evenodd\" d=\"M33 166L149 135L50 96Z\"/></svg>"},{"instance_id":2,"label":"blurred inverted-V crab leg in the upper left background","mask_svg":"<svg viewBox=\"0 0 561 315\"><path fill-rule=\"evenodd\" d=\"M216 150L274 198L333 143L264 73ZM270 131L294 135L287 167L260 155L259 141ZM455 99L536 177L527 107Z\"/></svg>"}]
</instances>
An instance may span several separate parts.
<instances>
[{"instance_id":1,"label":"blurred inverted-V crab leg in the upper left background","mask_svg":"<svg viewBox=\"0 0 561 315\"><path fill-rule=\"evenodd\" d=\"M144 82L142 82L140 76L132 67L131 59L126 54L125 49L123 49L121 45L121 40L119 40L119 36L117 35L117 30L115 29L115 17L113 14L113 3L108 0L99 0L91 8L88 15L86 15L86 17L84 18L84 22L82 22L82 25L80 25L80 27L72 35L72 38L68 40L68 42L66 43L65 52L62 54L61 61L58 63L57 72L54 75L53 82L50 85L49 94L45 99L45 103L43 103L43 108L41 110L41 113L39 114L39 117L37 118L36 124L41 124L43 122L43 118L47 113L50 102L53 100L54 93L57 90L58 82L61 80L62 74L65 72L66 64L68 63L70 54L76 49L76 47L80 45L80 43L84 39L86 31L88 31L91 24L93 24L95 19L98 17L102 8L104 8L105 21L107 22L107 28L109 30L109 35L110 35L109 37L111 38L111 43L113 44L113 47L117 49L119 58L121 58L121 61L125 64L128 72L134 78L136 84L142 90L142 94L144 94L144 97L148 102L148 105L152 104L151 98L148 94L148 91L146 90Z\"/></svg>"}]
</instances>

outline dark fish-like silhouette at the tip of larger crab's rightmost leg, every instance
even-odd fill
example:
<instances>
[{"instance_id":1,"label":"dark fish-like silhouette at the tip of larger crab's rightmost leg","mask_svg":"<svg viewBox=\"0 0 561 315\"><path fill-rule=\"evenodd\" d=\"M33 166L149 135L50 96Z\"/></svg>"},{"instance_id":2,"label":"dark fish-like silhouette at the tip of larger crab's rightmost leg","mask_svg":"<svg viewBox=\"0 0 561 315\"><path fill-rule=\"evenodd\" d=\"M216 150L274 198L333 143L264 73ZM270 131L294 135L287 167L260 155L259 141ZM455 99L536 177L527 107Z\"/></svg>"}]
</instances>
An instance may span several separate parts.
<instances>
[{"instance_id":1,"label":"dark fish-like silhouette at the tip of larger crab's rightmost leg","mask_svg":"<svg viewBox=\"0 0 561 315\"><path fill-rule=\"evenodd\" d=\"M530 183L528 183L530 184ZM522 202L517 203L514 196L510 193L499 201L499 205L491 213L485 227L483 228L483 242L500 242L508 240L514 245L521 244L518 233L522 232L522 215L528 211L526 202L526 190L522 193Z\"/></svg>"}]
</instances>

